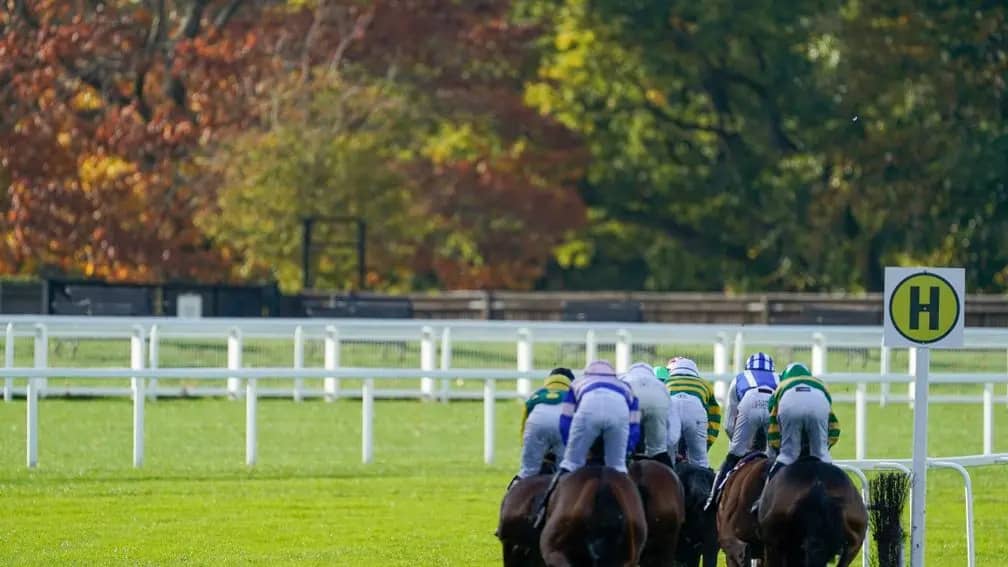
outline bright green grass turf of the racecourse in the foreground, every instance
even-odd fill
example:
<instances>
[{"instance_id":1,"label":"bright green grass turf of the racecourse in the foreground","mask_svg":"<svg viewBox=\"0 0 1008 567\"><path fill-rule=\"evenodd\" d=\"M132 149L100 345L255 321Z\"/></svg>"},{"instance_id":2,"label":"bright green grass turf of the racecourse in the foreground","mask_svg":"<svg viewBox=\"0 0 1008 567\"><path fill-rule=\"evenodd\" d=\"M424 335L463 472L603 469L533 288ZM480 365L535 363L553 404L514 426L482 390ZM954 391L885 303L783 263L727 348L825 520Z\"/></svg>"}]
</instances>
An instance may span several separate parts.
<instances>
[{"instance_id":1,"label":"bright green grass turf of the racecourse in the foreground","mask_svg":"<svg viewBox=\"0 0 1008 567\"><path fill-rule=\"evenodd\" d=\"M842 426L853 406L838 405ZM1008 451L1008 411L996 409ZM929 409L932 455L981 451L979 407ZM244 466L244 404L147 405L146 462L131 462L128 401L43 400L39 467L24 468L24 404L0 404L0 565L495 565L493 537L518 456L520 406L497 407L482 464L482 405L378 402L375 462L360 463L360 404L264 401L259 464ZM869 456L910 451L906 405L872 407ZM712 451L720 461L726 442ZM853 455L852 435L834 454ZM1008 553L1008 468L972 470L977 564ZM932 470L928 565L965 564L956 473Z\"/></svg>"}]
</instances>

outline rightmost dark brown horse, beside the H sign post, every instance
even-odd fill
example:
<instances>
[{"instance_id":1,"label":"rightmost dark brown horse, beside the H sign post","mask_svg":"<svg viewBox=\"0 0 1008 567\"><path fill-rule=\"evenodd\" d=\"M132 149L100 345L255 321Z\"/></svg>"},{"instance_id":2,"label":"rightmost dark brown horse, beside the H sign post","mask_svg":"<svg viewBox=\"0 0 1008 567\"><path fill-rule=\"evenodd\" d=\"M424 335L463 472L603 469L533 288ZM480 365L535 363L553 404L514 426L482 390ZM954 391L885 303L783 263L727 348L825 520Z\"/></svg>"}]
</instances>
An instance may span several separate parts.
<instances>
[{"instance_id":1,"label":"rightmost dark brown horse, beside the H sign post","mask_svg":"<svg viewBox=\"0 0 1008 567\"><path fill-rule=\"evenodd\" d=\"M759 534L767 567L848 567L868 530L861 494L840 468L813 457L785 466L767 483Z\"/></svg>"}]
</instances>

